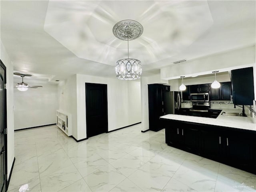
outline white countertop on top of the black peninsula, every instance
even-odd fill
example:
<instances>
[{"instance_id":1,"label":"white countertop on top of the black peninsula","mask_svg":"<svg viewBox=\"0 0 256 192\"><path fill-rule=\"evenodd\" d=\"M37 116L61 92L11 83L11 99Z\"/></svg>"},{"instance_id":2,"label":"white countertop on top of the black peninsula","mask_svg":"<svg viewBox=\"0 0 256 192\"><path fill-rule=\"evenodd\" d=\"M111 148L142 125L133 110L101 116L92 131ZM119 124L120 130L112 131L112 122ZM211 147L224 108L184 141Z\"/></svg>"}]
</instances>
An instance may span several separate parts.
<instances>
[{"instance_id":1,"label":"white countertop on top of the black peninsula","mask_svg":"<svg viewBox=\"0 0 256 192\"><path fill-rule=\"evenodd\" d=\"M223 108L222 109L211 108L211 109L222 110L222 112L237 112L237 110L235 110L235 109L223 109ZM227 115L221 115L221 113L216 119L215 118L207 118L207 117L176 115L176 114L168 114L168 115L161 116L160 118L256 131L256 118L240 117L240 116L227 116Z\"/></svg>"}]
</instances>

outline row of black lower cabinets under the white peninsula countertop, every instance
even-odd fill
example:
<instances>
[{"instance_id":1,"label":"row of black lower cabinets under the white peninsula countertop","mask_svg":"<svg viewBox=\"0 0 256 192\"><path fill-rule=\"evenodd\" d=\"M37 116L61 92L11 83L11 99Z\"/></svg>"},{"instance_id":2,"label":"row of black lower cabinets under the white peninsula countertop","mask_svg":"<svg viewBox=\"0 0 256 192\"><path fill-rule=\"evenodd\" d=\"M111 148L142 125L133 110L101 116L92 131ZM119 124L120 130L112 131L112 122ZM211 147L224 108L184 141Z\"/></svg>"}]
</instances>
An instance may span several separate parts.
<instances>
[{"instance_id":1,"label":"row of black lower cabinets under the white peninsula countertop","mask_svg":"<svg viewBox=\"0 0 256 192\"><path fill-rule=\"evenodd\" d=\"M166 144L256 174L256 132L162 119Z\"/></svg>"}]
</instances>

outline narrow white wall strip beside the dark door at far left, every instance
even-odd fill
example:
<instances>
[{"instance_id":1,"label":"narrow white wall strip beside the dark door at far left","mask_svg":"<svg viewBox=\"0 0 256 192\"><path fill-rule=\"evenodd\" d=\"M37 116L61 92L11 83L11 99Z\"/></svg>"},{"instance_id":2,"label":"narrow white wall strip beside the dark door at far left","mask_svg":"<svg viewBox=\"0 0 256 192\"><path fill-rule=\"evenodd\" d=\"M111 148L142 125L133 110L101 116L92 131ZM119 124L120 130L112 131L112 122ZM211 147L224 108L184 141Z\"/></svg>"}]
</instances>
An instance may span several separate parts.
<instances>
[{"instance_id":1,"label":"narrow white wall strip beside the dark door at far left","mask_svg":"<svg viewBox=\"0 0 256 192\"><path fill-rule=\"evenodd\" d=\"M6 52L2 41L0 42L1 60L6 66L7 84L7 178L9 178L14 160L14 112L13 112L13 64Z\"/></svg>"}]
</instances>

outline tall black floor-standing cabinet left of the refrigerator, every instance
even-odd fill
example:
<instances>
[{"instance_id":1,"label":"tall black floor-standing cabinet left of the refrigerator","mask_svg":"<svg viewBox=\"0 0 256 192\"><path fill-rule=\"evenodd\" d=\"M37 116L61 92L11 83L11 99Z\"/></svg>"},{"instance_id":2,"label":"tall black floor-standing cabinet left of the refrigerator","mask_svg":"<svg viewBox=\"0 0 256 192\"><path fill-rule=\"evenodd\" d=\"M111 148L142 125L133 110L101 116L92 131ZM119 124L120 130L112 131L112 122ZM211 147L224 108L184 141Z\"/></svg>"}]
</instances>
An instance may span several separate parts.
<instances>
[{"instance_id":1,"label":"tall black floor-standing cabinet left of the refrigerator","mask_svg":"<svg viewBox=\"0 0 256 192\"><path fill-rule=\"evenodd\" d=\"M159 117L164 115L162 93L168 90L170 91L170 86L162 84L148 85L149 130L159 131L163 128L159 120Z\"/></svg>"}]
</instances>

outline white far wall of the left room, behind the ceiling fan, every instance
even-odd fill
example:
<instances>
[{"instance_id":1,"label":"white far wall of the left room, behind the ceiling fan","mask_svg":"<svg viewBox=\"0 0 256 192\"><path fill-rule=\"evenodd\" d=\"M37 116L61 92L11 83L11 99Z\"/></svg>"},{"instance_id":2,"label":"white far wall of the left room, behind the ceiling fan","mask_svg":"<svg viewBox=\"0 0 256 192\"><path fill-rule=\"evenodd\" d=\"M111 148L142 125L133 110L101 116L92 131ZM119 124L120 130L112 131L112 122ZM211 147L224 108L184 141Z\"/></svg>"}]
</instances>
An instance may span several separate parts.
<instances>
[{"instance_id":1,"label":"white far wall of the left room, behind the ceiling fan","mask_svg":"<svg viewBox=\"0 0 256 192\"><path fill-rule=\"evenodd\" d=\"M14 82L16 83L18 82ZM43 87L29 88L27 91L14 88L14 130L55 124L58 86L50 83L28 84Z\"/></svg>"}]
</instances>

